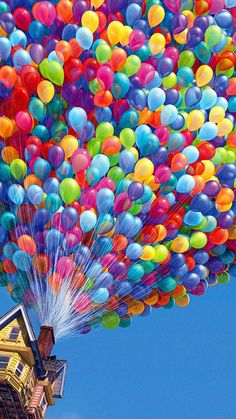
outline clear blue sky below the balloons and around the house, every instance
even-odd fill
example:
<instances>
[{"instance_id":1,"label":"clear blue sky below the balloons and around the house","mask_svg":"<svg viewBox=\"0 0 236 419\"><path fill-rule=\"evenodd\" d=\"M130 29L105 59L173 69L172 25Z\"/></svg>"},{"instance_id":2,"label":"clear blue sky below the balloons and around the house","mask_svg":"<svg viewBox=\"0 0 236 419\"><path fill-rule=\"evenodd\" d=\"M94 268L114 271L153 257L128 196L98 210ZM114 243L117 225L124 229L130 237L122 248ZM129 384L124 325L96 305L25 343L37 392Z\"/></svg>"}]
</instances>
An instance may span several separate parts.
<instances>
[{"instance_id":1,"label":"clear blue sky below the balloons and around the house","mask_svg":"<svg viewBox=\"0 0 236 419\"><path fill-rule=\"evenodd\" d=\"M12 306L1 292L0 314ZM236 419L236 281L131 327L58 342L63 400L48 419Z\"/></svg>"}]
</instances>

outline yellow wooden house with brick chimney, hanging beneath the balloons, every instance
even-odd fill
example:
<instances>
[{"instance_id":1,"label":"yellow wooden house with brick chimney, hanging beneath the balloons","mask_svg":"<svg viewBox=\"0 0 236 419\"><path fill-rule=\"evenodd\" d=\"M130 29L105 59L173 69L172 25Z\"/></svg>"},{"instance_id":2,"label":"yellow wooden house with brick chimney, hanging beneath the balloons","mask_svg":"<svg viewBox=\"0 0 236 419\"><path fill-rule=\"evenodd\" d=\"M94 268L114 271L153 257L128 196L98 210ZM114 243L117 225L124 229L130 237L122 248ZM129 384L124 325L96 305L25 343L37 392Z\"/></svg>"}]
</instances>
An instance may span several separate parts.
<instances>
[{"instance_id":1,"label":"yellow wooden house with brick chimney, hanging beneath the balloons","mask_svg":"<svg viewBox=\"0 0 236 419\"><path fill-rule=\"evenodd\" d=\"M53 330L38 340L23 304L0 318L0 419L41 419L62 398L66 361L50 352Z\"/></svg>"}]
</instances>

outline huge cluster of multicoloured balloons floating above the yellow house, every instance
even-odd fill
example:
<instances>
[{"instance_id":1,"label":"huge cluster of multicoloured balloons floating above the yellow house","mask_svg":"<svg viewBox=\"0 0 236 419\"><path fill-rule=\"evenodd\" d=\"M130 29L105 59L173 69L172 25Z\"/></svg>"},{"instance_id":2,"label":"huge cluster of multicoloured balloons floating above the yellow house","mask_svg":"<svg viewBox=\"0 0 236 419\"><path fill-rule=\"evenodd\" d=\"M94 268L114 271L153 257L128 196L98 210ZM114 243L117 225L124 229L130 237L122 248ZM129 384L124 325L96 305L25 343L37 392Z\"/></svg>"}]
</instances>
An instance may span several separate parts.
<instances>
[{"instance_id":1,"label":"huge cluster of multicoloured balloons floating above the yellow house","mask_svg":"<svg viewBox=\"0 0 236 419\"><path fill-rule=\"evenodd\" d=\"M236 275L235 28L232 0L0 1L14 301L66 289L87 333Z\"/></svg>"}]
</instances>

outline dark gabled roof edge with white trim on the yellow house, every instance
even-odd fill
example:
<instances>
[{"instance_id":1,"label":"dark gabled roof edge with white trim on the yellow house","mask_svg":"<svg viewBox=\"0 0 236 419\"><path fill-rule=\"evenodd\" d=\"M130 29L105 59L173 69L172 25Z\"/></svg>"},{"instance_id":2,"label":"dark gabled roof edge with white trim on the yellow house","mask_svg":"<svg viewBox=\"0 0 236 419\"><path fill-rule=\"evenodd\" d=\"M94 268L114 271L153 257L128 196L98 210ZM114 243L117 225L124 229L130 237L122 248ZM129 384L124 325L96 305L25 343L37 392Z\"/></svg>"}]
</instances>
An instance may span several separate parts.
<instances>
[{"instance_id":1,"label":"dark gabled roof edge with white trim on the yellow house","mask_svg":"<svg viewBox=\"0 0 236 419\"><path fill-rule=\"evenodd\" d=\"M4 314L0 317L0 330L11 323L13 320L18 319L21 317L24 321L25 328L29 337L30 346L34 355L35 359L35 373L38 378L41 378L45 375L45 370L43 367L42 358L39 352L37 339L35 337L29 316L27 314L26 308L24 304L18 304L12 310L8 311L8 313Z\"/></svg>"}]
</instances>

